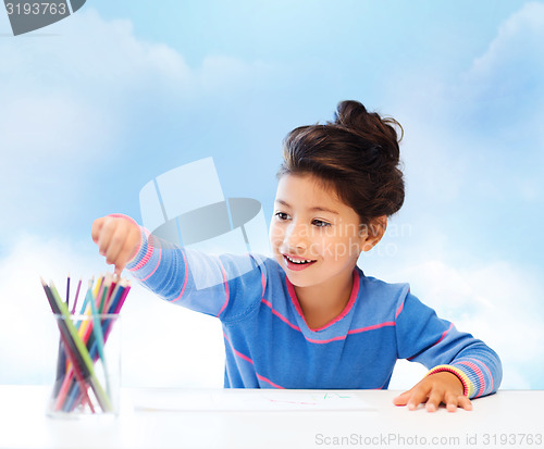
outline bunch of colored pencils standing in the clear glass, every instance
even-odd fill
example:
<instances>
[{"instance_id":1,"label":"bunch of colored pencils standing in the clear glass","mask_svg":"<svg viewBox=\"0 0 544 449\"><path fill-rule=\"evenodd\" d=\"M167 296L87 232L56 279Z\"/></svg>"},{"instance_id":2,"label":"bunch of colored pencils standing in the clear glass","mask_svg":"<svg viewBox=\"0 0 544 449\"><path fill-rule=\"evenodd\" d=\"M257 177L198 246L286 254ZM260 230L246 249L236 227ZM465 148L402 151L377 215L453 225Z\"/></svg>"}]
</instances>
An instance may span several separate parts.
<instances>
[{"instance_id":1,"label":"bunch of colored pencils standing in the clear glass","mask_svg":"<svg viewBox=\"0 0 544 449\"><path fill-rule=\"evenodd\" d=\"M123 307L131 285L126 279L111 274L89 282L79 314L75 314L82 280L77 285L75 300L70 311L70 276L66 282L66 300L63 301L53 283L41 279L47 300L55 314L60 330L57 379L50 411L72 412L89 410L96 413L113 412L110 376L104 345L108 341L119 312ZM106 390L97 375L100 361Z\"/></svg>"}]
</instances>

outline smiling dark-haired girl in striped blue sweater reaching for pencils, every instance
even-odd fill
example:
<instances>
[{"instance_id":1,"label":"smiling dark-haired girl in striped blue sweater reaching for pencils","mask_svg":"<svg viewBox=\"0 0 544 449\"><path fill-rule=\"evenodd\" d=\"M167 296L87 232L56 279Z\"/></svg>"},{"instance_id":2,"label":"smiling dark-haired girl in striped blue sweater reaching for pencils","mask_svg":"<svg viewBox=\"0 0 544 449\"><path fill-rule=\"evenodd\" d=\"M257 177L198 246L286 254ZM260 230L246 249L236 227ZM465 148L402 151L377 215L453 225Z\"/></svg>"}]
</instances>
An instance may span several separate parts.
<instances>
[{"instance_id":1,"label":"smiling dark-haired girl in striped blue sweater reaching for pencils","mask_svg":"<svg viewBox=\"0 0 544 449\"><path fill-rule=\"evenodd\" d=\"M471 398L498 388L497 354L438 319L407 284L357 266L404 201L396 127L344 101L334 122L287 135L273 259L173 247L119 214L95 221L92 239L116 273L126 266L166 301L221 320L225 387L387 388L396 360L408 359L430 371L395 404L470 410Z\"/></svg>"}]
</instances>

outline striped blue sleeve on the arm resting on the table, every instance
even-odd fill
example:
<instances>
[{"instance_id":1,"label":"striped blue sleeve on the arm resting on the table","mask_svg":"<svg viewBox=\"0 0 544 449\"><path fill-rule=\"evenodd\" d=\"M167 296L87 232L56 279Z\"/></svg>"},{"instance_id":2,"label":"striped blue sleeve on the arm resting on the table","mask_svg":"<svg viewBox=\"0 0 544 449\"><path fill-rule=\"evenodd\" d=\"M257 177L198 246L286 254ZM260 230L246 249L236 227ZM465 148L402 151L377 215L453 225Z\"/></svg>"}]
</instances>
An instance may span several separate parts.
<instances>
[{"instance_id":1,"label":"striped blue sleeve on the arm resting on the table","mask_svg":"<svg viewBox=\"0 0 544 449\"><path fill-rule=\"evenodd\" d=\"M429 374L448 371L465 386L465 395L478 398L495 392L503 377L498 356L483 341L457 330L434 310L408 294L396 320L398 358L417 361Z\"/></svg>"}]
</instances>

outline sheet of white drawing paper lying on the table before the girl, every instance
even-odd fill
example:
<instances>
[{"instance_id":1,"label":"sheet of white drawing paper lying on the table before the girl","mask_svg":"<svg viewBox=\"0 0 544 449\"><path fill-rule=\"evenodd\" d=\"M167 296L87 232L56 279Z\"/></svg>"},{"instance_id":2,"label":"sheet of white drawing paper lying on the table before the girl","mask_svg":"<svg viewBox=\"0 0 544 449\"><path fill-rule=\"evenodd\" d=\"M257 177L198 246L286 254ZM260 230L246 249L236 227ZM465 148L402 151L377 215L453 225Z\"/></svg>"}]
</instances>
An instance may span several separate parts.
<instances>
[{"instance_id":1,"label":"sheet of white drawing paper lying on the table before the girl","mask_svg":"<svg viewBox=\"0 0 544 449\"><path fill-rule=\"evenodd\" d=\"M136 411L372 411L355 392L336 390L157 390L138 395Z\"/></svg>"}]
</instances>

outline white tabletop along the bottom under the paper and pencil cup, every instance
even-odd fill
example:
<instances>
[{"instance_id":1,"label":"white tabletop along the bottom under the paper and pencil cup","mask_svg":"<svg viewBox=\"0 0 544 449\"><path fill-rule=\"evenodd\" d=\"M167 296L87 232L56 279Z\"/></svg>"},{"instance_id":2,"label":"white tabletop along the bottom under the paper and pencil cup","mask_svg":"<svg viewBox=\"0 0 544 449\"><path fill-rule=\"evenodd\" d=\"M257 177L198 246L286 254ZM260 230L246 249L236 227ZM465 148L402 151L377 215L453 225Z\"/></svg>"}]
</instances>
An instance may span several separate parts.
<instances>
[{"instance_id":1,"label":"white tabletop along the bottom under the paper and pencil cup","mask_svg":"<svg viewBox=\"0 0 544 449\"><path fill-rule=\"evenodd\" d=\"M374 390L345 391L364 401L361 410L244 410L263 391L287 398L277 390L123 389L116 417L61 420L45 414L46 388L0 386L0 448L544 448L541 390L500 390L456 413L410 412L392 404L398 391ZM286 395L297 392L308 390ZM210 395L222 410L206 410ZM194 407L199 397L203 409Z\"/></svg>"}]
</instances>

